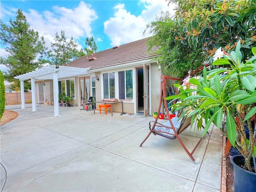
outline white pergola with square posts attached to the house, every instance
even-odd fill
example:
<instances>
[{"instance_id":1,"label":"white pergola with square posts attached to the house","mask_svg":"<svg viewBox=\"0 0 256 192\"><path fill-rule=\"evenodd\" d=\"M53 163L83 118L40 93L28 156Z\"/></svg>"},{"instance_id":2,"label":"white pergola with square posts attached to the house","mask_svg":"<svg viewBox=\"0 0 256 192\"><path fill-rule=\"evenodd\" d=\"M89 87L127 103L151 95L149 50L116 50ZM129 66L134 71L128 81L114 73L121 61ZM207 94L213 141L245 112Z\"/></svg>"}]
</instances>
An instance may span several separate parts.
<instances>
[{"instance_id":1,"label":"white pergola with square posts attached to the house","mask_svg":"<svg viewBox=\"0 0 256 192\"><path fill-rule=\"evenodd\" d=\"M53 80L53 99L58 103L58 79L78 77L88 74L89 68L76 68L69 66L45 66L14 78L20 80L21 108L25 109L24 80L31 80L32 111L36 111L36 86L35 80ZM60 116L59 106L54 105L54 116Z\"/></svg>"}]
</instances>

